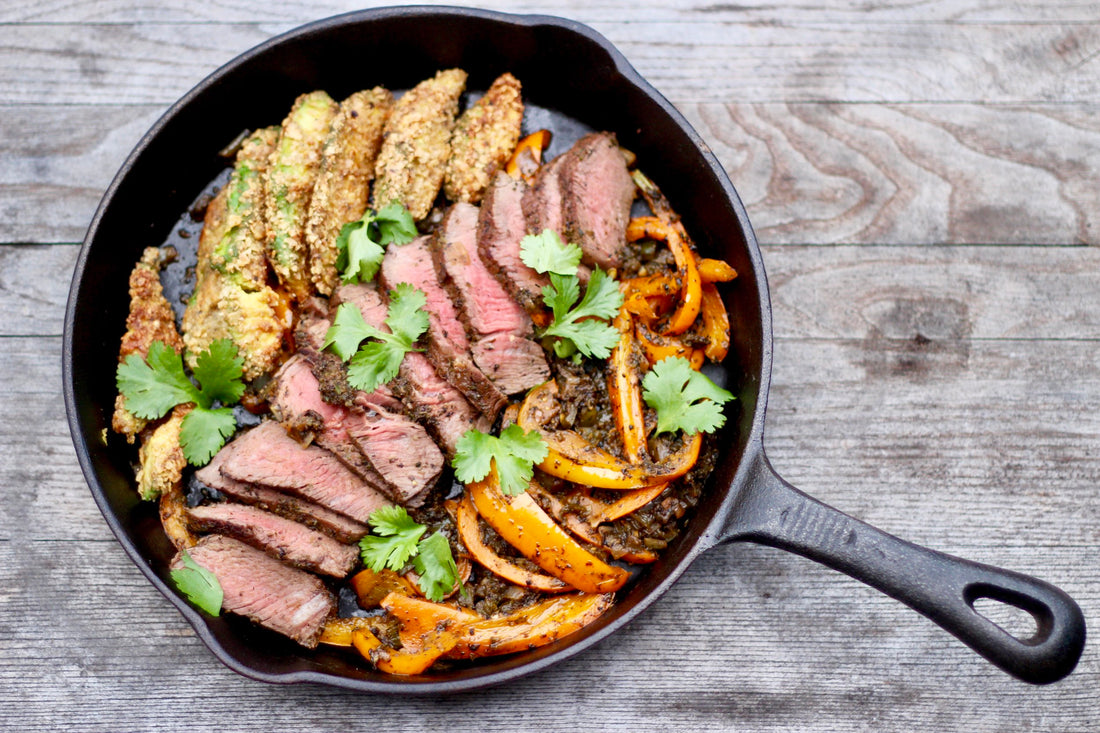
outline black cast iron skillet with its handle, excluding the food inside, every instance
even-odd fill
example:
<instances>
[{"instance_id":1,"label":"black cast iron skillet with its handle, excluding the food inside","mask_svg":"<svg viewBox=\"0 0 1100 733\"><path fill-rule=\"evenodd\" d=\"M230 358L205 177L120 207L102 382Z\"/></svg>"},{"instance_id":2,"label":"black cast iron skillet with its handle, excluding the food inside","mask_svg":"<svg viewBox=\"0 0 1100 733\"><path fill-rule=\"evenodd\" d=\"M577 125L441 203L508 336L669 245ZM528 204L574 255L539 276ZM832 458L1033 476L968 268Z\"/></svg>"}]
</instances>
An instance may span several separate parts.
<instances>
[{"instance_id":1,"label":"black cast iron skillet with its handle, excluding the food inside","mask_svg":"<svg viewBox=\"0 0 1100 733\"><path fill-rule=\"evenodd\" d=\"M408 88L460 66L484 89L509 70L531 105L618 134L668 193L701 250L740 276L723 294L729 358L714 378L737 395L721 459L689 526L595 624L556 644L484 664L394 678L324 649L310 653L235 617L211 619L166 584L172 548L154 508L133 490L132 449L105 440L127 278L142 248L165 240L191 199L224 167L217 156L242 129L280 120L294 97L336 98L384 84ZM1028 682L1068 675L1085 643L1077 604L1043 581L905 543L806 496L779 478L762 431L771 366L771 306L760 250L725 172L683 117L602 36L557 18L448 8L389 8L306 25L243 54L179 100L114 178L84 242L65 317L64 376L80 466L111 529L142 572L232 669L268 682L322 682L372 692L440 693L534 672L608 636L657 600L700 554L730 540L798 553L925 614ZM1030 612L1037 632L1015 638L974 610L990 598Z\"/></svg>"}]
</instances>

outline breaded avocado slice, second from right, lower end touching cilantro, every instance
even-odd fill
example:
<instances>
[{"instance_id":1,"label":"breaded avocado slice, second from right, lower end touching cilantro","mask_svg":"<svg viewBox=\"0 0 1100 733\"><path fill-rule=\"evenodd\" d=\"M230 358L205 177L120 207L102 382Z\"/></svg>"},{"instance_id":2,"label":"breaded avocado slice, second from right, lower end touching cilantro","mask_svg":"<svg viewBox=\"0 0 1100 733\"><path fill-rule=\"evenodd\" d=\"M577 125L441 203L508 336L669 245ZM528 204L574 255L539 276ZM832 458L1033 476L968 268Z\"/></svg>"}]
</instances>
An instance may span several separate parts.
<instances>
[{"instance_id":1,"label":"breaded avocado slice, second from right, lower end touching cilantro","mask_svg":"<svg viewBox=\"0 0 1100 733\"><path fill-rule=\"evenodd\" d=\"M447 69L409 89L394 105L374 166L375 209L397 201L418 221L431 211L443 183L454 116L465 87L465 72Z\"/></svg>"}]
</instances>

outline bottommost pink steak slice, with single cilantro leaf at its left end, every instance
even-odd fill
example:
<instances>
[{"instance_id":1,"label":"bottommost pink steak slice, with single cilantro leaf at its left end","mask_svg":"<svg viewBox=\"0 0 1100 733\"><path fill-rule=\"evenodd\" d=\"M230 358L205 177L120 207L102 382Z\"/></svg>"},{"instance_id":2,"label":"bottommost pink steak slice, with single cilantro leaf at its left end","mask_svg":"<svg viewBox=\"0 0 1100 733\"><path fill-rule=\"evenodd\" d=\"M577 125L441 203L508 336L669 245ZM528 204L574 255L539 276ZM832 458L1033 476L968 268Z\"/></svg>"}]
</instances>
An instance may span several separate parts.
<instances>
[{"instance_id":1,"label":"bottommost pink steak slice, with single cilantro leaf at its left end","mask_svg":"<svg viewBox=\"0 0 1100 733\"><path fill-rule=\"evenodd\" d=\"M337 603L316 576L288 568L244 543L207 535L187 550L213 573L223 593L221 608L314 648ZM172 560L184 567L183 557Z\"/></svg>"}]
</instances>

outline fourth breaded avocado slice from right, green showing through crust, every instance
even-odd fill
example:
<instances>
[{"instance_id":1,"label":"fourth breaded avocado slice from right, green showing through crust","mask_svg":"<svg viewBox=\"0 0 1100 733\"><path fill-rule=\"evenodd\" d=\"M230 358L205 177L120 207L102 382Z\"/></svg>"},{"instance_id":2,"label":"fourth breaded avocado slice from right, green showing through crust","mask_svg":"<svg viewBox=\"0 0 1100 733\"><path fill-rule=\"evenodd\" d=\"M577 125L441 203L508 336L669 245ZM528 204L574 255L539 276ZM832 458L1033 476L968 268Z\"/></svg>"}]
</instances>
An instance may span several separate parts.
<instances>
[{"instance_id":1,"label":"fourth breaded avocado slice from right, green showing through crust","mask_svg":"<svg viewBox=\"0 0 1100 733\"><path fill-rule=\"evenodd\" d=\"M267 261L297 300L310 294L305 225L321 147L339 106L323 91L298 97L283 121L267 168Z\"/></svg>"}]
</instances>

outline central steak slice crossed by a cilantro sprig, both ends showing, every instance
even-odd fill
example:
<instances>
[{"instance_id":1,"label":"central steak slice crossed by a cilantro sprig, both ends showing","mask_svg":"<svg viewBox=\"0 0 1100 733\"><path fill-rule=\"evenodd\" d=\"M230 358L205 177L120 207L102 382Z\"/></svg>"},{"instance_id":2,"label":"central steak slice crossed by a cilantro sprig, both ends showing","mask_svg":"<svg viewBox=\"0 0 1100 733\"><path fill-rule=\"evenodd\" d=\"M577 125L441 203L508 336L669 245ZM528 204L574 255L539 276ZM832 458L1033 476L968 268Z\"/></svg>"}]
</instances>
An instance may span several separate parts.
<instances>
[{"instance_id":1,"label":"central steak slice crossed by a cilantro sprig, both ends showing","mask_svg":"<svg viewBox=\"0 0 1100 733\"><path fill-rule=\"evenodd\" d=\"M386 318L385 303L373 286L344 285L333 294L333 300L354 303L363 314L363 320L377 329L389 330L383 322ZM417 351L405 354L400 372L391 386L405 402L409 415L428 426L449 456L454 453L454 444L466 430L476 428L487 431L492 426Z\"/></svg>"}]
</instances>

